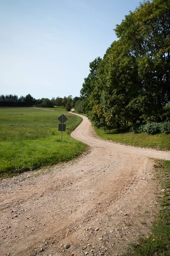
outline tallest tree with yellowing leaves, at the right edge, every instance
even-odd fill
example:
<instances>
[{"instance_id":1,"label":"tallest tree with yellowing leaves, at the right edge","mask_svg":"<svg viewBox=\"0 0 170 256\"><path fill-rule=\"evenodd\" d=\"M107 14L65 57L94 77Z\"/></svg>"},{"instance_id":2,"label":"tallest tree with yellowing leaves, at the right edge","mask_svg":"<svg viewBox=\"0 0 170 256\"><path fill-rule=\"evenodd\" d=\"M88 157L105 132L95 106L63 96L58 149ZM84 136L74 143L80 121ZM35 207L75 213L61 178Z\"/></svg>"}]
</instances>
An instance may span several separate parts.
<instances>
[{"instance_id":1,"label":"tallest tree with yellowing leaves, at the right edge","mask_svg":"<svg viewBox=\"0 0 170 256\"><path fill-rule=\"evenodd\" d=\"M163 108L170 102L170 1L141 3L115 32L138 62L142 87L130 102L130 111L138 108L145 121L161 121Z\"/></svg>"}]
</instances>

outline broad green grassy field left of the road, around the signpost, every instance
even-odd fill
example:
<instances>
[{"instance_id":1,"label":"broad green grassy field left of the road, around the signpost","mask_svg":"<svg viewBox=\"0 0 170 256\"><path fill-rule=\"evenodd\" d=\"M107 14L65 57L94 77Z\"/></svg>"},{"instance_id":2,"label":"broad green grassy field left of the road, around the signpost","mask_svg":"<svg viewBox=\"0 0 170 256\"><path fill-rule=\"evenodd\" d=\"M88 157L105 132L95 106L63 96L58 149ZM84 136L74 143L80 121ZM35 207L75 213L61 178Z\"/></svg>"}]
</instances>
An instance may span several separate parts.
<instances>
[{"instance_id":1,"label":"broad green grassy field left of the road, around the signpost","mask_svg":"<svg viewBox=\"0 0 170 256\"><path fill-rule=\"evenodd\" d=\"M0 108L1 176L68 161L85 150L85 144L69 136L82 119L65 109L51 110ZM68 120L61 142L58 117L62 113Z\"/></svg>"}]
</instances>

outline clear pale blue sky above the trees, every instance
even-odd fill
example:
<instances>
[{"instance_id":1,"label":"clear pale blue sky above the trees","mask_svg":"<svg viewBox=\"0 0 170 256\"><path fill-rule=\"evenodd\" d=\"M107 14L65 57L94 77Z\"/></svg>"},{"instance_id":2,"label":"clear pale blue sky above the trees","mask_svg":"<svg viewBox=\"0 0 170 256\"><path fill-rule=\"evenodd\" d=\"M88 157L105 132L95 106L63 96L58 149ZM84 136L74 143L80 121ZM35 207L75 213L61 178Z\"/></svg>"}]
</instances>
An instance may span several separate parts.
<instances>
[{"instance_id":1,"label":"clear pale blue sky above the trees","mask_svg":"<svg viewBox=\"0 0 170 256\"><path fill-rule=\"evenodd\" d=\"M0 0L0 94L79 96L139 0Z\"/></svg>"}]
</instances>

